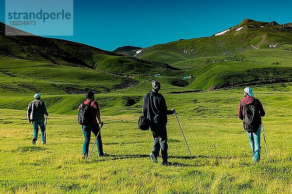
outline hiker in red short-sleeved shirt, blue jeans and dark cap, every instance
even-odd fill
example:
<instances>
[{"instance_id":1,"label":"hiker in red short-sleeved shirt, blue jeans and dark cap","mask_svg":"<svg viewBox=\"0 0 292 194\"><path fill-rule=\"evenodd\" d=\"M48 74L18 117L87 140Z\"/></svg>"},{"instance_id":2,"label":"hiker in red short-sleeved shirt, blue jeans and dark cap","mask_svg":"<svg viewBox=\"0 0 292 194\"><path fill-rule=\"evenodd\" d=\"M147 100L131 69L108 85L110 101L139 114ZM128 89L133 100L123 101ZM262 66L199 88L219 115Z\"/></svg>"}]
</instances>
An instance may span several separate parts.
<instances>
[{"instance_id":1,"label":"hiker in red short-sleeved shirt, blue jeans and dark cap","mask_svg":"<svg viewBox=\"0 0 292 194\"><path fill-rule=\"evenodd\" d=\"M88 150L89 150L89 143L91 140L91 131L94 134L94 136L97 136L96 139L96 146L98 151L98 157L106 156L106 153L103 152L103 146L102 146L102 140L101 140L101 134L100 134L100 128L103 126L103 122L100 119L100 111L97 101L94 100L94 92L88 91L86 93L86 100L83 102L85 105L90 103L90 109L91 109L91 118L89 118L90 122L89 124L82 125L82 131L84 135L84 143L83 143L83 154L82 158L87 159L88 157ZM81 108L82 103L78 107L78 110ZM97 119L96 119L97 118ZM97 123L100 124L100 127Z\"/></svg>"}]
</instances>

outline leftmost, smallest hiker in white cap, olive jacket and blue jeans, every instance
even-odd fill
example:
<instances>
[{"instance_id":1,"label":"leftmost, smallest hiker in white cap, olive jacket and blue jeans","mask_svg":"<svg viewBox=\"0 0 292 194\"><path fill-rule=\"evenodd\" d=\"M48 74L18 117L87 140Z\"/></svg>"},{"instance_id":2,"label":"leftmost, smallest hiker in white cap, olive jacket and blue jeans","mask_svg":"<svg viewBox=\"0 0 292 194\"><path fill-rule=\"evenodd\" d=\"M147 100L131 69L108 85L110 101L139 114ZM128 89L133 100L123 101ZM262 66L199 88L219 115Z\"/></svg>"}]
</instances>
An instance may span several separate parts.
<instances>
[{"instance_id":1,"label":"leftmost, smallest hiker in white cap, olive jacket and blue jeans","mask_svg":"<svg viewBox=\"0 0 292 194\"><path fill-rule=\"evenodd\" d=\"M43 101L40 100L40 94L35 94L34 100L28 104L27 107L27 120L33 124L34 136L33 136L33 145L36 144L38 127L40 128L41 134L41 143L46 144L45 134L45 116L49 116L47 112L46 105Z\"/></svg>"}]
</instances>

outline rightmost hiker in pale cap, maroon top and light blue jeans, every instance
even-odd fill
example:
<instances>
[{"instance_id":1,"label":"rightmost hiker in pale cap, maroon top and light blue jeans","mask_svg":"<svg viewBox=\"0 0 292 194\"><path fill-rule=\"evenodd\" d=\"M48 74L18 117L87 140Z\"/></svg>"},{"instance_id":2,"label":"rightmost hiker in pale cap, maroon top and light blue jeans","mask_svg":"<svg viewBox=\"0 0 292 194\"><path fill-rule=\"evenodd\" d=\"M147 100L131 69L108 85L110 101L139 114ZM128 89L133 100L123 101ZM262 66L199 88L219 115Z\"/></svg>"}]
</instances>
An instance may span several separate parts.
<instances>
[{"instance_id":1,"label":"rightmost hiker in pale cap, maroon top and light blue jeans","mask_svg":"<svg viewBox=\"0 0 292 194\"><path fill-rule=\"evenodd\" d=\"M238 105L238 117L243 121L252 148L254 162L260 161L260 129L261 117L265 116L263 105L259 99L254 97L253 89L244 89L244 98Z\"/></svg>"}]
</instances>

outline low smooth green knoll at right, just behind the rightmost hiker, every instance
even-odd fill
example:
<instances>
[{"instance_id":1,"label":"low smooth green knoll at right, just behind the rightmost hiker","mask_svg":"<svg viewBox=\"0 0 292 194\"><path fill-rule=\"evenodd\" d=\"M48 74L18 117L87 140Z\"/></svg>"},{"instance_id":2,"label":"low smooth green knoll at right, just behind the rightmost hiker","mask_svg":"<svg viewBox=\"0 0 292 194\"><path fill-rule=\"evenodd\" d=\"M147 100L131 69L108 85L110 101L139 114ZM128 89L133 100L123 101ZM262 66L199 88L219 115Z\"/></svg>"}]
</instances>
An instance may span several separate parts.
<instances>
[{"instance_id":1,"label":"low smooth green knoll at right, just behind the rightmost hiker","mask_svg":"<svg viewBox=\"0 0 292 194\"><path fill-rule=\"evenodd\" d=\"M289 82L292 78L292 66L264 65L251 62L219 62L202 65L190 70L193 75L190 88L207 90L235 87L237 85L259 85L265 83Z\"/></svg>"}]
</instances>

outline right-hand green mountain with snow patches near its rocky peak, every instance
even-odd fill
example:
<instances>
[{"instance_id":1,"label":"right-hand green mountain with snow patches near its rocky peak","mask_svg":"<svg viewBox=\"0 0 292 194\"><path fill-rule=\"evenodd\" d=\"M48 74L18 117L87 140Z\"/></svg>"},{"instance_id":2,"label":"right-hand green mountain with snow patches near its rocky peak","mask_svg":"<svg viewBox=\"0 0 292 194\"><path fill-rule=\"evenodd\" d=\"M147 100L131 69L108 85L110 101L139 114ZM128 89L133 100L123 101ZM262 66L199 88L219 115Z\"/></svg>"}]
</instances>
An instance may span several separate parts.
<instances>
[{"instance_id":1,"label":"right-hand green mountain with snow patches near its rocky peak","mask_svg":"<svg viewBox=\"0 0 292 194\"><path fill-rule=\"evenodd\" d=\"M292 25L245 19L210 37L143 49L137 57L193 76L185 87L213 90L292 80Z\"/></svg>"}]
</instances>

